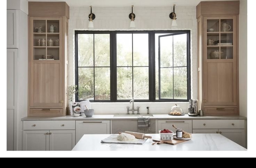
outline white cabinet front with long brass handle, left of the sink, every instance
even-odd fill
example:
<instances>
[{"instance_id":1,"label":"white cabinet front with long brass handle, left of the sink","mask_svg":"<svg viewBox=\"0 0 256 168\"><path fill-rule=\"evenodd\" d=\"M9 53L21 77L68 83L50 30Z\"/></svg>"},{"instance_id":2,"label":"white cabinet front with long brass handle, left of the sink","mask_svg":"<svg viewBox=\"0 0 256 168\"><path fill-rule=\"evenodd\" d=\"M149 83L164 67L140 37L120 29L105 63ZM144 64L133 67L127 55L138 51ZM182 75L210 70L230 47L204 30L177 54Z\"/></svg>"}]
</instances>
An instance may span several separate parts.
<instances>
[{"instance_id":1,"label":"white cabinet front with long brass handle, left of the sink","mask_svg":"<svg viewBox=\"0 0 256 168\"><path fill-rule=\"evenodd\" d=\"M85 134L110 134L110 120L75 121L75 142Z\"/></svg>"}]
</instances>

